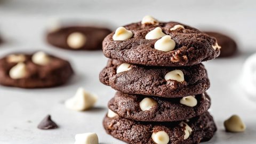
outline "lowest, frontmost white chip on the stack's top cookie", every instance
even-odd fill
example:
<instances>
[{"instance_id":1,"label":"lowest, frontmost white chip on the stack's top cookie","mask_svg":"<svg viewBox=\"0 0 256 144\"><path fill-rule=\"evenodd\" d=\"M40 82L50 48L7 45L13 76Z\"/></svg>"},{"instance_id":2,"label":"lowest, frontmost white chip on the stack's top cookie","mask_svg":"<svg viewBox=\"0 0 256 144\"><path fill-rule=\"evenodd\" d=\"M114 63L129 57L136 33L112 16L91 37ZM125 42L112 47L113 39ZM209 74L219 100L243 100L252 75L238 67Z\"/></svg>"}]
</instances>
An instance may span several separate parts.
<instances>
[{"instance_id":1,"label":"lowest, frontmost white chip on the stack's top cookie","mask_svg":"<svg viewBox=\"0 0 256 144\"><path fill-rule=\"evenodd\" d=\"M163 36L158 39L155 43L155 49L164 52L170 52L174 49L175 42L172 40L171 36Z\"/></svg>"}]
</instances>

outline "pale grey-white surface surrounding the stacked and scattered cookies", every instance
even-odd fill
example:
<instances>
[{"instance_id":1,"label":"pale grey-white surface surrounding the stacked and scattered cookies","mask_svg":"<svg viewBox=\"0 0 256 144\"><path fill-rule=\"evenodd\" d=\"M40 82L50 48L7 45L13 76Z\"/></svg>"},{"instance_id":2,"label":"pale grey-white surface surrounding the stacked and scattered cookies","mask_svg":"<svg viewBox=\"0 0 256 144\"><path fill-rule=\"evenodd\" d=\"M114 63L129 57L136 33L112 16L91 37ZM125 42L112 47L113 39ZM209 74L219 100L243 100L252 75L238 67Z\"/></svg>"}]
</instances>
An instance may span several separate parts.
<instances>
[{"instance_id":1,"label":"pale grey-white surface surrounding the stacked and scattered cookies","mask_svg":"<svg viewBox=\"0 0 256 144\"><path fill-rule=\"evenodd\" d=\"M0 86L0 143L74 143L76 133L97 132L100 143L123 143L107 135L102 118L107 101L115 93L99 82L99 72L107 59L98 52L74 52L56 49L44 41L47 19L103 20L113 27L139 21L144 15L159 20L175 20L191 26L231 31L241 54L234 58L204 62L211 80L211 113L218 125L217 134L205 143L255 143L256 97L249 97L239 85L244 60L256 52L254 1L8 1L0 0L0 57L14 51L47 52L67 58L76 75L64 86L26 90ZM244 84L246 85L246 84ZM94 109L85 112L68 110L63 101L76 89L99 95ZM255 88L256 89L256 88ZM59 129L38 130L37 124L51 114ZM238 114L247 129L243 133L226 133L223 121Z\"/></svg>"}]
</instances>

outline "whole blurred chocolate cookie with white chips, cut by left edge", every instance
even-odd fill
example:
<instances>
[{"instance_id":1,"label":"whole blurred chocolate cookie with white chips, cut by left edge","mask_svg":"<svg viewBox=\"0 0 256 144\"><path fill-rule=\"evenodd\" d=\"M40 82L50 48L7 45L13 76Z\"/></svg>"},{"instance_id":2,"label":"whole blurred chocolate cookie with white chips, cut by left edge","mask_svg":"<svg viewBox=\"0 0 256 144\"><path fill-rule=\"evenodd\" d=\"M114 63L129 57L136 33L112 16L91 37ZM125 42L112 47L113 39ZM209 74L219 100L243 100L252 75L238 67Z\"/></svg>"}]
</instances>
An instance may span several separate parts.
<instances>
[{"instance_id":1,"label":"whole blurred chocolate cookie with white chips, cut by left edge","mask_svg":"<svg viewBox=\"0 0 256 144\"><path fill-rule=\"evenodd\" d=\"M53 87L73 75L68 61L44 52L10 54L0 59L0 84L22 88Z\"/></svg>"}]
</instances>

